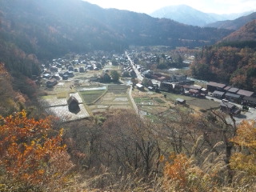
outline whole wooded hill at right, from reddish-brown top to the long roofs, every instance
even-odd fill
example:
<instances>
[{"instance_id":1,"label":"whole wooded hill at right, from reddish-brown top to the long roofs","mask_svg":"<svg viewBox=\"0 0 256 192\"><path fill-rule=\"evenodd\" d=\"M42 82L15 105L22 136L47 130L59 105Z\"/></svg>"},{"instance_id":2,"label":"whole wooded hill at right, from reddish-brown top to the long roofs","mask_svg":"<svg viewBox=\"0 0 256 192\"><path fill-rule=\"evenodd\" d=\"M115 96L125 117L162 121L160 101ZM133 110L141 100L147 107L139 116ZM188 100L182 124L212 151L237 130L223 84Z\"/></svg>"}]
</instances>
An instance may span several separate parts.
<instances>
[{"instance_id":1,"label":"whole wooded hill at right, from reddish-brown top to the long roofs","mask_svg":"<svg viewBox=\"0 0 256 192\"><path fill-rule=\"evenodd\" d=\"M191 74L196 78L223 82L245 90L256 90L256 20L206 46L196 55Z\"/></svg>"}]
</instances>

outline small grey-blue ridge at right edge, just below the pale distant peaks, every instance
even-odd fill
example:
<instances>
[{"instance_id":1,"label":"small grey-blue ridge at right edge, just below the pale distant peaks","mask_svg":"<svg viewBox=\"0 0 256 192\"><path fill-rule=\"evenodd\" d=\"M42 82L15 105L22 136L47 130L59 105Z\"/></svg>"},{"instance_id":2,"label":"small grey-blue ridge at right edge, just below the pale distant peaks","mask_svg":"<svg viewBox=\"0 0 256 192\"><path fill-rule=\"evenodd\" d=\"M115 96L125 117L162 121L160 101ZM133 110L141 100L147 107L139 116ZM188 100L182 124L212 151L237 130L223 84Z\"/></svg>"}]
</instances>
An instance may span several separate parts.
<instances>
[{"instance_id":1,"label":"small grey-blue ridge at right edge, just below the pale distant peaks","mask_svg":"<svg viewBox=\"0 0 256 192\"><path fill-rule=\"evenodd\" d=\"M246 16L243 16L243 17L240 17L240 18L236 18L234 20L210 23L206 26L215 27L218 29L238 30L240 27L246 25L247 22L250 22L254 19L256 19L256 12L246 15Z\"/></svg>"}]
</instances>

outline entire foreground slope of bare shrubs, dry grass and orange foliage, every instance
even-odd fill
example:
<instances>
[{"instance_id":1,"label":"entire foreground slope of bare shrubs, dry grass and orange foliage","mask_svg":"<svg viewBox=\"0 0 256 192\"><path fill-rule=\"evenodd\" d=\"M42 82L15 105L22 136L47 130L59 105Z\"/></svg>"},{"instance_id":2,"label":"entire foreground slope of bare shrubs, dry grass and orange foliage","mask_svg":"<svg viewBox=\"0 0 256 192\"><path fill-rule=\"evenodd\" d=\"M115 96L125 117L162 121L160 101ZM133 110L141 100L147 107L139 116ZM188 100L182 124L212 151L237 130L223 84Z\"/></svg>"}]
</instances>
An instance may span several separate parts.
<instances>
[{"instance_id":1,"label":"entire foreground slope of bare shrubs, dry grass and orange foliage","mask_svg":"<svg viewBox=\"0 0 256 192\"><path fill-rule=\"evenodd\" d=\"M254 191L255 122L176 112L156 123L129 111L95 116L62 125L64 138L56 119L1 117L0 189Z\"/></svg>"}]
</instances>

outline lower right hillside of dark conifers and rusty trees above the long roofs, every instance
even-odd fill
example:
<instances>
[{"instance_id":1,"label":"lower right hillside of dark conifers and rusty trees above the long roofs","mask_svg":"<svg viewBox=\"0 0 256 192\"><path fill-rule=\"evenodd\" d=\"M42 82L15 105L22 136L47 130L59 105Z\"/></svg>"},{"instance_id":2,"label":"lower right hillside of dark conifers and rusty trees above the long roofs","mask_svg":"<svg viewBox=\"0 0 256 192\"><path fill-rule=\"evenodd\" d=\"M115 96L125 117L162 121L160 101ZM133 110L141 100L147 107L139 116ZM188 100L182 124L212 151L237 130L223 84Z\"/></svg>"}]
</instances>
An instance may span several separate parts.
<instances>
[{"instance_id":1,"label":"lower right hillside of dark conifers and rusty trees above the long roofs","mask_svg":"<svg viewBox=\"0 0 256 192\"><path fill-rule=\"evenodd\" d=\"M255 61L254 49L209 46L196 55L190 69L196 78L255 91Z\"/></svg>"}]
</instances>

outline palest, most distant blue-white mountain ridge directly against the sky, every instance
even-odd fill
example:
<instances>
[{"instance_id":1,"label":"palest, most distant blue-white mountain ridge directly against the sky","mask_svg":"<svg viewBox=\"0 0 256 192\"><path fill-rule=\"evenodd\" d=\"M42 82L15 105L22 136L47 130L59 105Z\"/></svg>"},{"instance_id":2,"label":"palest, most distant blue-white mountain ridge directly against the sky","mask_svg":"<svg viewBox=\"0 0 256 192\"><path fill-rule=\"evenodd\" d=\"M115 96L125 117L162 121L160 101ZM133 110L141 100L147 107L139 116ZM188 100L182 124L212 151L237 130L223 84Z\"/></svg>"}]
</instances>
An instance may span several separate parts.
<instances>
[{"instance_id":1,"label":"palest, most distant blue-white mountain ridge directly against the sky","mask_svg":"<svg viewBox=\"0 0 256 192\"><path fill-rule=\"evenodd\" d=\"M252 11L241 14L211 14L204 13L200 10L186 5L166 6L155 10L150 16L154 18L170 18L176 22L181 22L192 26L206 26L213 22L239 18L243 15L250 14Z\"/></svg>"}]
</instances>

